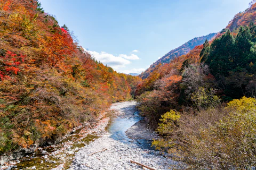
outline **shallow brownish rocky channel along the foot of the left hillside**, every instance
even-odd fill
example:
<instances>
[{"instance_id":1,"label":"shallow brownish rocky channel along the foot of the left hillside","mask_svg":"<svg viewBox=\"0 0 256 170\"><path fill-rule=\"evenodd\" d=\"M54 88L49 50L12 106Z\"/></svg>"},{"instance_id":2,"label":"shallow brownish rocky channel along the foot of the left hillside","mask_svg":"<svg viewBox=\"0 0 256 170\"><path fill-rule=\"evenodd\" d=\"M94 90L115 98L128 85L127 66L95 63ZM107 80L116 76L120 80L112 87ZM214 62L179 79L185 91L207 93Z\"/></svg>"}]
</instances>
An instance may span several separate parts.
<instances>
[{"instance_id":1,"label":"shallow brownish rocky channel along the foot of the left hillside","mask_svg":"<svg viewBox=\"0 0 256 170\"><path fill-rule=\"evenodd\" d=\"M109 120L108 113L103 113L95 122L84 124L77 130L74 129L74 133L67 135L60 143L39 147L33 154L0 165L0 170L68 169L75 152L105 134Z\"/></svg>"}]
</instances>

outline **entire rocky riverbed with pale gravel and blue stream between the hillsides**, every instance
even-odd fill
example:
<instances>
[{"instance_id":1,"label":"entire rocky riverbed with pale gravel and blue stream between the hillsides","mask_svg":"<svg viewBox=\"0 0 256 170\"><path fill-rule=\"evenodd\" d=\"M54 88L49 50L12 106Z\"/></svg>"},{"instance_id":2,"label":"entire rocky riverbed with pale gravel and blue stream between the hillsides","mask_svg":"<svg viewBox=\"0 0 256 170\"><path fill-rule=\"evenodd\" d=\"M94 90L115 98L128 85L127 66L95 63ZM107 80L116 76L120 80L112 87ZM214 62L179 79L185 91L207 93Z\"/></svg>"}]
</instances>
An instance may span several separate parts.
<instances>
[{"instance_id":1,"label":"entire rocky riverbed with pale gravel and blue stream between the hillsides","mask_svg":"<svg viewBox=\"0 0 256 170\"><path fill-rule=\"evenodd\" d=\"M113 104L111 116L105 113L57 145L40 147L34 154L8 162L0 169L142 169L131 160L154 169L180 168L181 164L167 154L151 148L151 140L158 138L157 134L147 129L147 121L139 116L136 104Z\"/></svg>"}]
</instances>

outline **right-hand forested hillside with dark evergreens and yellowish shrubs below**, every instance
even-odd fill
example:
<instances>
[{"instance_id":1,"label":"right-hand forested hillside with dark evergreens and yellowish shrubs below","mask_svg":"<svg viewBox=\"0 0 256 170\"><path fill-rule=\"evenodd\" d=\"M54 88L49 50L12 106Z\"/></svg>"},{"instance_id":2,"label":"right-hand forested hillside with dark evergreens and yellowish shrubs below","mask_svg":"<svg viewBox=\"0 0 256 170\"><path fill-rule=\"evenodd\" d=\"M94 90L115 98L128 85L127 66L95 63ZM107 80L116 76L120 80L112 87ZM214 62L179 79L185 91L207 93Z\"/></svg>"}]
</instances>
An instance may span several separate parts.
<instances>
[{"instance_id":1,"label":"right-hand forested hillside with dark evergreens and yellowish shrubs below","mask_svg":"<svg viewBox=\"0 0 256 170\"><path fill-rule=\"evenodd\" d=\"M256 4L214 40L157 65L135 94L162 135L154 141L190 169L256 166Z\"/></svg>"}]
</instances>

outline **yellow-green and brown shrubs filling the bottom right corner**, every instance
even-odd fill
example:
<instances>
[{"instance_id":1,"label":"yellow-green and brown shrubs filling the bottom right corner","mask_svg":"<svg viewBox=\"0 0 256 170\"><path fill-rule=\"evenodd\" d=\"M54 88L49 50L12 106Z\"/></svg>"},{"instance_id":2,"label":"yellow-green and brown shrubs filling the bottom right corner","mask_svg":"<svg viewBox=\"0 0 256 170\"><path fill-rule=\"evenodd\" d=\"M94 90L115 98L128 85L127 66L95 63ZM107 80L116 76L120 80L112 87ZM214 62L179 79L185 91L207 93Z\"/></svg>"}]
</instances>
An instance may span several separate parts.
<instances>
[{"instance_id":1,"label":"yellow-green and brown shrubs filling the bottom right corner","mask_svg":"<svg viewBox=\"0 0 256 170\"><path fill-rule=\"evenodd\" d=\"M191 169L252 169L256 166L256 100L230 101L197 114L170 111L154 141Z\"/></svg>"}]
</instances>

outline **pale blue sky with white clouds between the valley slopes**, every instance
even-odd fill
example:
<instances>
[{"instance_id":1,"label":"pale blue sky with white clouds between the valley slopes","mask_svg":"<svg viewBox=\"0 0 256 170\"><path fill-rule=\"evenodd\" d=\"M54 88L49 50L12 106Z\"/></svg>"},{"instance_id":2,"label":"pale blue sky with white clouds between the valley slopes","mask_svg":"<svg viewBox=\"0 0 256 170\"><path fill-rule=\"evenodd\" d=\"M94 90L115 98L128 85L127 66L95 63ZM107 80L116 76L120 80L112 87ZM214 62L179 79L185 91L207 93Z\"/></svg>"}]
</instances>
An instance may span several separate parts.
<instances>
[{"instance_id":1,"label":"pale blue sky with white clouds between the valley slopes","mask_svg":"<svg viewBox=\"0 0 256 170\"><path fill-rule=\"evenodd\" d=\"M251 0L40 0L103 64L140 73L195 37L219 32Z\"/></svg>"}]
</instances>

